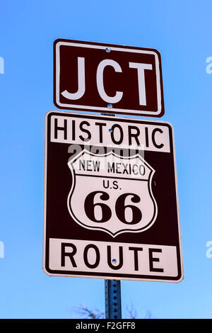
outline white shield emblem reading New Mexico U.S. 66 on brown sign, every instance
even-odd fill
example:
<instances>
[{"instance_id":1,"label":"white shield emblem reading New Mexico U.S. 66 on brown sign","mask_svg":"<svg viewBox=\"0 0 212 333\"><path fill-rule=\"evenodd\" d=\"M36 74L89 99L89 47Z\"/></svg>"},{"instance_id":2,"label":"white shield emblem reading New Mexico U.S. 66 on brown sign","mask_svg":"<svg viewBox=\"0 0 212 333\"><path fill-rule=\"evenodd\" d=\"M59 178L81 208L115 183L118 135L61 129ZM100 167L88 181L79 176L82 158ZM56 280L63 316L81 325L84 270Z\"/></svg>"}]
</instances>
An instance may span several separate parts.
<instances>
[{"instance_id":1,"label":"white shield emblem reading New Mexico U.S. 66 on brown sign","mask_svg":"<svg viewBox=\"0 0 212 333\"><path fill-rule=\"evenodd\" d=\"M68 165L72 184L67 204L79 225L112 237L153 225L158 214L151 188L155 170L140 154L124 157L83 149Z\"/></svg>"}]
</instances>

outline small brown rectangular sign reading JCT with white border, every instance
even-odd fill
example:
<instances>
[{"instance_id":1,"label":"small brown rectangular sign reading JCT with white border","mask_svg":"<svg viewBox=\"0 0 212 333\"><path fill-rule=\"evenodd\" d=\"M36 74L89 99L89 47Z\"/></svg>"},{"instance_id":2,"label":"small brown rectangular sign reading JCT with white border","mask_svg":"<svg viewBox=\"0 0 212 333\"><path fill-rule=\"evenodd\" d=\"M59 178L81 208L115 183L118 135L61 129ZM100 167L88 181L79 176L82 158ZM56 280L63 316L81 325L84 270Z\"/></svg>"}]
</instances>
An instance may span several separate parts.
<instances>
[{"instance_id":1,"label":"small brown rectangular sign reading JCT with white border","mask_svg":"<svg viewBox=\"0 0 212 333\"><path fill-rule=\"evenodd\" d=\"M54 104L62 109L161 117L164 101L160 52L55 40Z\"/></svg>"}]
</instances>

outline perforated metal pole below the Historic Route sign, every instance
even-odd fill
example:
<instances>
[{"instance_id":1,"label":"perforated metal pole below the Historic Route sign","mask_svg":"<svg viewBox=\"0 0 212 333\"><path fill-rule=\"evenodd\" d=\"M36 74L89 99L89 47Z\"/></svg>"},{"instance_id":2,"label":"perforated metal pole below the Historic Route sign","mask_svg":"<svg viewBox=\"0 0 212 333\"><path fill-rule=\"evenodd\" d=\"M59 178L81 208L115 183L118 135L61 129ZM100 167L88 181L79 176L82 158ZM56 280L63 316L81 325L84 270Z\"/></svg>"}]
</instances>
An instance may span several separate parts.
<instances>
[{"instance_id":1,"label":"perforated metal pole below the Historic Route sign","mask_svg":"<svg viewBox=\"0 0 212 333\"><path fill-rule=\"evenodd\" d=\"M105 280L105 318L122 319L121 281Z\"/></svg>"}]
</instances>

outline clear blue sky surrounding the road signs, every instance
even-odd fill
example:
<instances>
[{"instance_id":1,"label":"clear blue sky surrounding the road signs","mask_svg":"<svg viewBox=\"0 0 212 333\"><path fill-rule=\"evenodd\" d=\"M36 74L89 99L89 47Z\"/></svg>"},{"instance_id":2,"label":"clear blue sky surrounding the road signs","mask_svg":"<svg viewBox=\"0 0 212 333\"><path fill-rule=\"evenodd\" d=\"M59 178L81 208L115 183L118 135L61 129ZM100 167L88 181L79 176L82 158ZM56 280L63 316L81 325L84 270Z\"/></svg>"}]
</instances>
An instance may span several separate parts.
<instances>
[{"instance_id":1,"label":"clear blue sky surrounding the road signs","mask_svg":"<svg viewBox=\"0 0 212 333\"><path fill-rule=\"evenodd\" d=\"M175 128L184 280L123 281L123 317L133 305L138 318L148 311L155 318L211 318L211 1L13 0L0 6L0 317L80 317L71 310L80 304L105 310L103 280L42 271L44 120L57 109L52 43L67 38L153 47L162 56L160 120Z\"/></svg>"}]
</instances>

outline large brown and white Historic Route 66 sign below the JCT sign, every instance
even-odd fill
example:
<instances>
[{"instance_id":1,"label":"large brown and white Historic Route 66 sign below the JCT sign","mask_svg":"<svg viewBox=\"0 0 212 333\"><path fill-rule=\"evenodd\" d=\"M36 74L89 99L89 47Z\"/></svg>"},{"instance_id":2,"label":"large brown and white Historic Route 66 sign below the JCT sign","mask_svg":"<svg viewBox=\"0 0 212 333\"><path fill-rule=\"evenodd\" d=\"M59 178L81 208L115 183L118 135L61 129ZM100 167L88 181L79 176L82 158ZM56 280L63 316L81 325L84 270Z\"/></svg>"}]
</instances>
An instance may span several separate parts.
<instances>
[{"instance_id":1,"label":"large brown and white Historic Route 66 sign below the JCT sign","mask_svg":"<svg viewBox=\"0 0 212 333\"><path fill-rule=\"evenodd\" d=\"M45 273L182 280L173 140L160 121L47 113Z\"/></svg>"}]
</instances>

